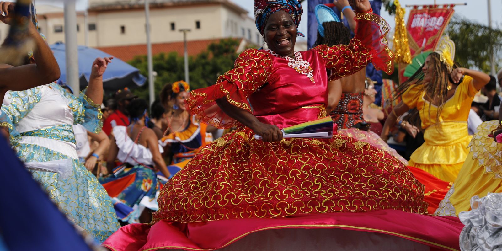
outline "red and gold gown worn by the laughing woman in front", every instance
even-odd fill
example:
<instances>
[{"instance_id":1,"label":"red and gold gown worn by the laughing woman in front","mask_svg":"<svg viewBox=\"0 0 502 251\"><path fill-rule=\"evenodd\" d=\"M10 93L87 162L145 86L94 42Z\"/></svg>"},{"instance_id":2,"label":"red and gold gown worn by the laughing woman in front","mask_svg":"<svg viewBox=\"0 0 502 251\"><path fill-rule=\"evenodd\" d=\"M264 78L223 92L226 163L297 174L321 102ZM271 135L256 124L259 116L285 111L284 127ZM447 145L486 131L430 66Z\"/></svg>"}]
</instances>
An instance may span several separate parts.
<instances>
[{"instance_id":1,"label":"red and gold gown worn by the laughing woman in front","mask_svg":"<svg viewBox=\"0 0 502 251\"><path fill-rule=\"evenodd\" d=\"M264 238L282 236L267 243L291 245L308 235L284 235L287 231L341 228L380 234L386 241L387 236L394 238L391 241L458 249L463 225L454 217L425 215L424 186L389 153L341 135L272 143L255 140L252 130L215 102L226 97L249 111L252 105L260 121L279 128L326 116L327 68L342 77L369 61L384 70L392 67L392 53L380 40L385 37L377 35L385 21L367 13L357 14L356 20L358 32L348 46L321 45L297 53L295 60L248 49L215 85L192 91L187 107L201 121L238 129L201 149L165 185L151 224L124 226L104 246L117 251L257 250L267 242ZM264 230L279 235L267 231L265 237L256 235ZM342 235L332 232L320 242ZM259 236L255 242L253 236ZM283 249L270 245L269 250Z\"/></svg>"}]
</instances>

